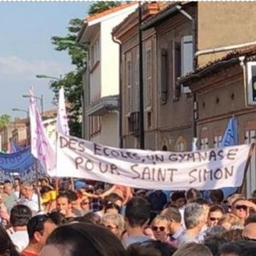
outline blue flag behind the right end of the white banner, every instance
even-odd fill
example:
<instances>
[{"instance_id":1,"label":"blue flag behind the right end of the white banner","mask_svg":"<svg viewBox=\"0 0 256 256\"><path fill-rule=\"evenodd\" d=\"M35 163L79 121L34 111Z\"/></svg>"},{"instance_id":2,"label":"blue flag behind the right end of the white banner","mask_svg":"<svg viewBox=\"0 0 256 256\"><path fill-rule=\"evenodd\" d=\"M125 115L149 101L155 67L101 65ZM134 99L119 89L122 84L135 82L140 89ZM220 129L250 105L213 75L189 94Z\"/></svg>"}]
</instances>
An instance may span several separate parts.
<instances>
[{"instance_id":1,"label":"blue flag behind the right end of the white banner","mask_svg":"<svg viewBox=\"0 0 256 256\"><path fill-rule=\"evenodd\" d=\"M220 147L229 147L236 144L238 144L237 120L235 117L232 117L229 119L229 123L227 124L222 141L220 142ZM237 187L225 187L222 189L225 198L231 194L234 194L236 190Z\"/></svg>"}]
</instances>

